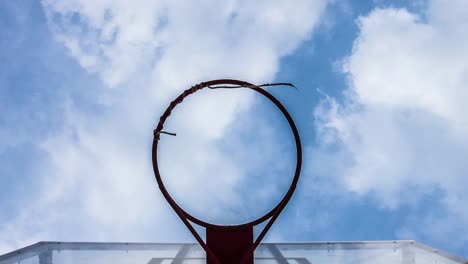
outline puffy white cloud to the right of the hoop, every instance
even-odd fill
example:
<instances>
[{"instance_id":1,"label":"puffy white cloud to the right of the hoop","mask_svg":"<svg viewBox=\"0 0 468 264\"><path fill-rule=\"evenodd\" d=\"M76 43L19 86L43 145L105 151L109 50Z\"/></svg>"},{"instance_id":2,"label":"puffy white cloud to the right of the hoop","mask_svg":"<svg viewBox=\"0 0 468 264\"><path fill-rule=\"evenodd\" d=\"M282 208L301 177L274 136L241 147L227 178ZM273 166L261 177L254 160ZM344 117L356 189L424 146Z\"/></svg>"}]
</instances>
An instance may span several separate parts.
<instances>
[{"instance_id":1,"label":"puffy white cloud to the right of the hoop","mask_svg":"<svg viewBox=\"0 0 468 264\"><path fill-rule=\"evenodd\" d=\"M444 242L468 233L467 4L433 0L424 17L386 8L359 18L344 100L326 99L315 113L317 155L337 154L342 186L390 208L432 196L409 228Z\"/></svg>"}]
</instances>

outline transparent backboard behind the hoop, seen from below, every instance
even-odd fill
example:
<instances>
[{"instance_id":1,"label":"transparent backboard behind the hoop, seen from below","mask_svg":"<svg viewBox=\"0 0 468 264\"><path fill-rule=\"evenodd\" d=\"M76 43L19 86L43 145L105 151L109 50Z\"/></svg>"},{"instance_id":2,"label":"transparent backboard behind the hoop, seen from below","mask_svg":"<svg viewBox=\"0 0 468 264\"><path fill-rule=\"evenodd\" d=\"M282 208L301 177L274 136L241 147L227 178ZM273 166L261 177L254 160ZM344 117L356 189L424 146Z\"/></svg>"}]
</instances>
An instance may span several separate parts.
<instances>
[{"instance_id":1,"label":"transparent backboard behind the hoop, seen from below","mask_svg":"<svg viewBox=\"0 0 468 264\"><path fill-rule=\"evenodd\" d=\"M205 263L194 243L39 242L0 256L0 264ZM457 264L468 260L414 241L262 243L255 263Z\"/></svg>"}]
</instances>

